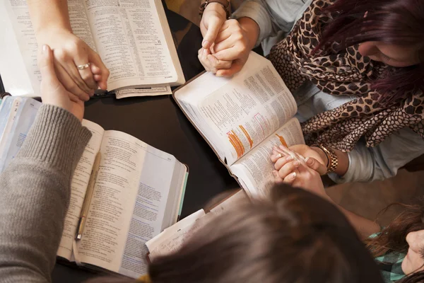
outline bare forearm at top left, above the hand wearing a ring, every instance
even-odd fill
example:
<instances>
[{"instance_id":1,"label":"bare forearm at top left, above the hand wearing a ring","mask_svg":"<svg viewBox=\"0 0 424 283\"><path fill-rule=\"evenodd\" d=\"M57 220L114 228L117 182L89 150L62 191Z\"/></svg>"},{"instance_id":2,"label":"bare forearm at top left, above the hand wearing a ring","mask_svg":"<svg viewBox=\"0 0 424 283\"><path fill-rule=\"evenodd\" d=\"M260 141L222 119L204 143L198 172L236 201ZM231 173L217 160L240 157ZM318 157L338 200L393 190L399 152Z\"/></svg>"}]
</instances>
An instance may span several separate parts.
<instances>
[{"instance_id":1,"label":"bare forearm at top left, above the hand wearing a ring","mask_svg":"<svg viewBox=\"0 0 424 283\"><path fill-rule=\"evenodd\" d=\"M35 35L42 30L61 28L72 31L67 0L27 0ZM54 35L52 35L54 36Z\"/></svg>"}]
</instances>

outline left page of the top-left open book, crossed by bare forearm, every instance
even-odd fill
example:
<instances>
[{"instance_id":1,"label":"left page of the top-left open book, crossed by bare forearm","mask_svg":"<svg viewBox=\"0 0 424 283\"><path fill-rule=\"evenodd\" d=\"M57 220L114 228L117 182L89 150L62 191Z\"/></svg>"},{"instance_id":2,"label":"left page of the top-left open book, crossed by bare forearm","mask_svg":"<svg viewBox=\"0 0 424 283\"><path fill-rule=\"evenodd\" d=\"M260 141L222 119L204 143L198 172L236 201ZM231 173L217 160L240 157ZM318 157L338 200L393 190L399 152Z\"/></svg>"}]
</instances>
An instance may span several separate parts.
<instances>
[{"instance_id":1,"label":"left page of the top-left open book, crossed by bare forearm","mask_svg":"<svg viewBox=\"0 0 424 283\"><path fill-rule=\"evenodd\" d=\"M96 50L82 1L68 0L71 27L76 36ZM4 0L4 8L5 10L0 15L8 17L6 24L13 28L15 35L15 38L10 38L12 36L10 33L5 34L8 36L6 40L10 41L15 49L18 47L20 51L11 53L0 47L0 53L6 52L6 54L0 55L0 58L4 59L0 64L4 69L0 67L0 73L5 81L6 90L10 91L12 95L40 96L41 74L37 66L38 46L28 5L25 0ZM4 15L5 12L6 15ZM14 43L17 43L18 46ZM22 84L24 86L20 86ZM12 88L8 88L8 86Z\"/></svg>"}]
</instances>

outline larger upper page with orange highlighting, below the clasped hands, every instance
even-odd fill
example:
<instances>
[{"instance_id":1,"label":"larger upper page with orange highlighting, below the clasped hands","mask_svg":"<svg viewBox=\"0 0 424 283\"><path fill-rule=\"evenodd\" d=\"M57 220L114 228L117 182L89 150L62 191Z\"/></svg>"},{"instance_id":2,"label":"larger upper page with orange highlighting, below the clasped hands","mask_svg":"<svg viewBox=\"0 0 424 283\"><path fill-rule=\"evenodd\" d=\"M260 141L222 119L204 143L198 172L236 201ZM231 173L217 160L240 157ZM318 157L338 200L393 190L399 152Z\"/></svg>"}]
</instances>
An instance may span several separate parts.
<instances>
[{"instance_id":1,"label":"larger upper page with orange highlighting, below the clasped hands","mask_svg":"<svg viewBox=\"0 0 424 283\"><path fill-rule=\"evenodd\" d=\"M184 110L228 165L282 127L297 111L295 100L268 59L251 52L230 79L206 73L175 93ZM188 111L188 110L187 110ZM218 139L218 141L216 141Z\"/></svg>"}]
</instances>

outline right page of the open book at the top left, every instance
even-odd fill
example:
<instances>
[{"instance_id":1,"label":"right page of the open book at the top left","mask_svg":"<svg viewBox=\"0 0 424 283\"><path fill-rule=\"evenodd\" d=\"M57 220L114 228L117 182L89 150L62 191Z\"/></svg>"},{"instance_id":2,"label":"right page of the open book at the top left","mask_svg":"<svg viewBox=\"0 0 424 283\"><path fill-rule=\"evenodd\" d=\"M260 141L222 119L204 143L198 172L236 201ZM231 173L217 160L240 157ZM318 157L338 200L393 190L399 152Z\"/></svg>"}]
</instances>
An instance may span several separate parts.
<instances>
[{"instance_id":1,"label":"right page of the open book at the top left","mask_svg":"<svg viewBox=\"0 0 424 283\"><path fill-rule=\"evenodd\" d=\"M154 0L84 2L110 90L177 81Z\"/></svg>"}]
</instances>

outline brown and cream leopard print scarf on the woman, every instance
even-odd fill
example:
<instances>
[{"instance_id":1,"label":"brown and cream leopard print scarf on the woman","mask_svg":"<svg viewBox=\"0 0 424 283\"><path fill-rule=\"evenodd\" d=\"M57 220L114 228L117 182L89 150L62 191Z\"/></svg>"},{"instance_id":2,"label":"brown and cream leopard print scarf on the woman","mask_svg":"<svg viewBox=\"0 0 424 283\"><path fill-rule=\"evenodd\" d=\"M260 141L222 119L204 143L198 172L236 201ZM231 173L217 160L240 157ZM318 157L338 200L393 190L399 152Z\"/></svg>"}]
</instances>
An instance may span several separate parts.
<instances>
[{"instance_id":1,"label":"brown and cream leopard print scarf on the woman","mask_svg":"<svg viewBox=\"0 0 424 283\"><path fill-rule=\"evenodd\" d=\"M336 52L336 42L329 54L311 56L322 27L331 21L322 9L334 1L312 1L288 37L274 45L269 54L290 91L310 80L324 93L357 97L302 123L307 144L351 151L360 137L365 137L367 146L376 146L404 127L424 139L422 92L383 106L378 103L380 94L370 89L370 78L382 76L387 65L363 57L358 52L359 45Z\"/></svg>"}]
</instances>

